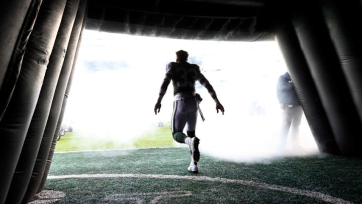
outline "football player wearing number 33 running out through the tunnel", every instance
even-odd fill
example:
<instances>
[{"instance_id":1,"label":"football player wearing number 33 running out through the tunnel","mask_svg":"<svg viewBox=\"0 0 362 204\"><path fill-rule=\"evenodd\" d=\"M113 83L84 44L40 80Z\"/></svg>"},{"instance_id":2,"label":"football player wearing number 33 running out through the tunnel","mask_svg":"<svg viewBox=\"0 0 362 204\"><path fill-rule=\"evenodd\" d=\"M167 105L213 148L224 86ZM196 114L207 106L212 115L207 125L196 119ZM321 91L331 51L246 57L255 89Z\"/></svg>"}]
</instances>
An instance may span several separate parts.
<instances>
[{"instance_id":1,"label":"football player wearing number 33 running out through the tunnel","mask_svg":"<svg viewBox=\"0 0 362 204\"><path fill-rule=\"evenodd\" d=\"M187 62L189 54L184 50L176 52L176 62L170 62L166 66L166 74L161 85L157 103L154 106L155 114L161 109L161 101L167 87L172 80L173 85L173 112L171 118L172 137L178 143L189 145L191 163L189 171L198 173L200 160L199 138L195 135L199 103L202 100L196 93L195 83L199 81L209 92L216 103L216 111L224 114L224 107L216 96L214 88L200 72L197 64ZM201 111L200 111L201 113ZM187 134L183 132L186 126Z\"/></svg>"}]
</instances>

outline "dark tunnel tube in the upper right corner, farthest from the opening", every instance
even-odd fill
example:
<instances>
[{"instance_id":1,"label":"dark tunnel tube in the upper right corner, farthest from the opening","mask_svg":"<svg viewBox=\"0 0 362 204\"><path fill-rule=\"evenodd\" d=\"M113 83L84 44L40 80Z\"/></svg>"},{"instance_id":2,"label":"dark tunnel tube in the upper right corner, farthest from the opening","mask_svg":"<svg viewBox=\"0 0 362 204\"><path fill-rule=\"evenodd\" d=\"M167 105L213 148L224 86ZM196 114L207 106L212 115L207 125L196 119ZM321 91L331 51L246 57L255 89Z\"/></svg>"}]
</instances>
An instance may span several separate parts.
<instances>
[{"instance_id":1,"label":"dark tunnel tube in the upper right corner, farthest from the opening","mask_svg":"<svg viewBox=\"0 0 362 204\"><path fill-rule=\"evenodd\" d=\"M361 5L355 1L343 4L323 0L322 11L359 119L362 120L362 31L355 29L362 19Z\"/></svg>"}]
</instances>

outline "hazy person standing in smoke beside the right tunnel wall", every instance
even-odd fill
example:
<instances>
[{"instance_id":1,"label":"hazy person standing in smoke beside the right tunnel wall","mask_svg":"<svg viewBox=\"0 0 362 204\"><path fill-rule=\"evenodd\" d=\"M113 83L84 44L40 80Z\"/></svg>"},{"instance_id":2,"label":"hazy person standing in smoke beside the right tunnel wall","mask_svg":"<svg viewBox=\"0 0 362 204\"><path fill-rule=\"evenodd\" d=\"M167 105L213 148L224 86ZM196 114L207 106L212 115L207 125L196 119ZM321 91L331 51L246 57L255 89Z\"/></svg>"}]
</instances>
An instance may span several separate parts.
<instances>
[{"instance_id":1,"label":"hazy person standing in smoke beside the right tunnel wall","mask_svg":"<svg viewBox=\"0 0 362 204\"><path fill-rule=\"evenodd\" d=\"M277 97L280 107L283 109L281 129L282 146L285 146L290 130L293 147L299 147L299 126L302 120L303 109L288 72L278 79Z\"/></svg>"}]
</instances>

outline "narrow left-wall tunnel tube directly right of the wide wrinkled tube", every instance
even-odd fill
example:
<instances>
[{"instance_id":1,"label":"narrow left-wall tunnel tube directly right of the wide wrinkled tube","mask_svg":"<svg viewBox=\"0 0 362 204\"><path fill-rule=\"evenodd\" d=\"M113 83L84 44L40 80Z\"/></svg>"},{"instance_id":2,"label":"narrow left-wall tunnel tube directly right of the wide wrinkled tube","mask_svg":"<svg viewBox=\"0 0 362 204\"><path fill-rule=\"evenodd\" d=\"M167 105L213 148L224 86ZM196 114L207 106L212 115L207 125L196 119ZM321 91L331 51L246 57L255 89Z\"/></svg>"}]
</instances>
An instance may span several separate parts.
<instances>
[{"instance_id":1,"label":"narrow left-wall tunnel tube directly right of the wide wrinkled tube","mask_svg":"<svg viewBox=\"0 0 362 204\"><path fill-rule=\"evenodd\" d=\"M53 100L78 5L79 0L68 0L66 3L54 48L49 58L44 83L25 138L22 153L13 176L6 203L20 203L26 192L27 184L29 183L33 172L35 159L38 155L40 142L48 119L51 102Z\"/></svg>"}]
</instances>

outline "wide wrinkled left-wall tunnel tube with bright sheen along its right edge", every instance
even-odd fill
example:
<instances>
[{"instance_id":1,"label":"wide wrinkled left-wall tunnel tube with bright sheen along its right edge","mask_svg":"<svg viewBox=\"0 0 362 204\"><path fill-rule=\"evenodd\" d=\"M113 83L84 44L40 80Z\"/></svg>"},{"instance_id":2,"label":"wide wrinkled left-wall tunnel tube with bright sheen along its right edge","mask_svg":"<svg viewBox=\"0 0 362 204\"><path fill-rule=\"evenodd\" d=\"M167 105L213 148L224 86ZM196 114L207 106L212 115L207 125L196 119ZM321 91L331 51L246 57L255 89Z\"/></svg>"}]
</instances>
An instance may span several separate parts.
<instances>
[{"instance_id":1,"label":"wide wrinkled left-wall tunnel tube with bright sheen along its right edge","mask_svg":"<svg viewBox=\"0 0 362 204\"><path fill-rule=\"evenodd\" d=\"M8 168L1 168L2 172L0 173L1 187L5 188L1 190L2 200L0 202L4 201L3 193L6 197L15 171L13 167L16 167L21 154L64 6L65 4L60 6L62 9L57 12L57 10L47 7L47 4L41 5L37 21L26 44L19 79L0 121L1 157L6 157L8 160L4 161ZM7 172L4 172L5 170Z\"/></svg>"}]
</instances>

